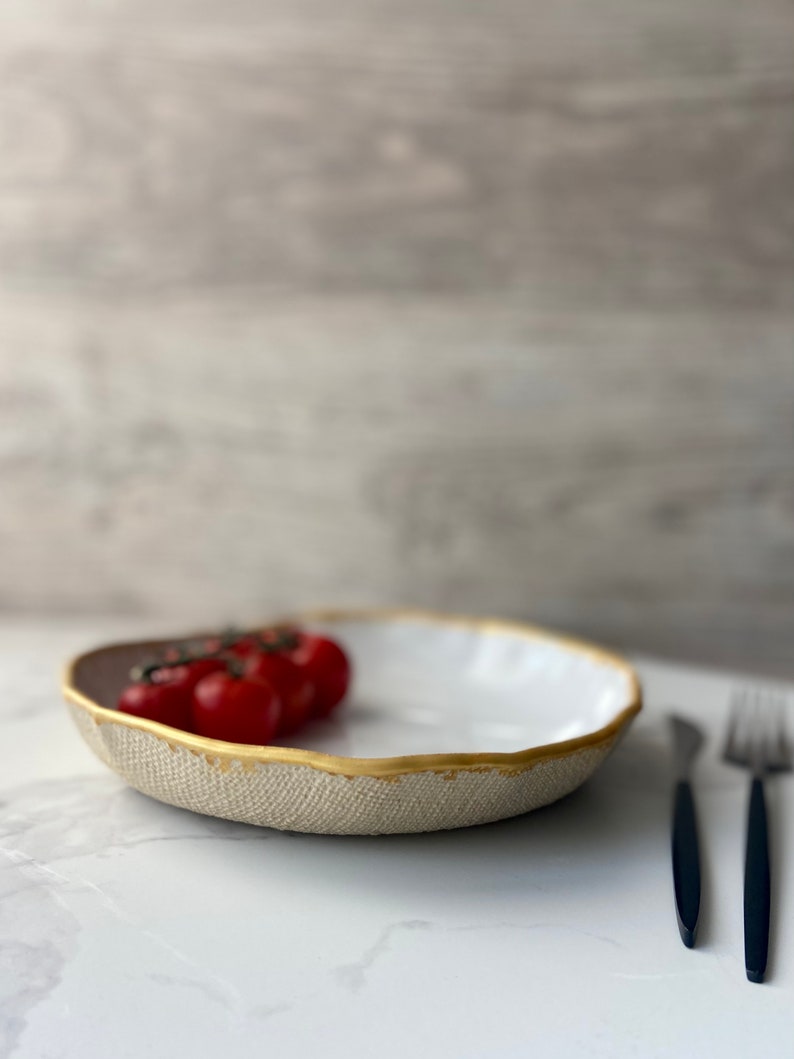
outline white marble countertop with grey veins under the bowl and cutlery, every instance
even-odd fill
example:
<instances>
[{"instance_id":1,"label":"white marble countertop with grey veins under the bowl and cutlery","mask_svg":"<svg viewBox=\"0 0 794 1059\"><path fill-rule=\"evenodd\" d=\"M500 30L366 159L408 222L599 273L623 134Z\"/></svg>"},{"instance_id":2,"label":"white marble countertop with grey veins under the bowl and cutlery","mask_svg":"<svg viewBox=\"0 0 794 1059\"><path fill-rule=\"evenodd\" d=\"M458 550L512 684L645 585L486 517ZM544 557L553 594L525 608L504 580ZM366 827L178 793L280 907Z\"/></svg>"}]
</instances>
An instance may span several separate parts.
<instances>
[{"instance_id":1,"label":"white marble countertop with grey veins under the bowl and cutlery","mask_svg":"<svg viewBox=\"0 0 794 1059\"><path fill-rule=\"evenodd\" d=\"M2 1059L794 1055L794 785L771 797L775 944L753 986L745 783L716 738L699 948L675 927L664 710L716 736L736 678L639 660L646 710L564 802L340 839L160 805L91 756L60 664L139 631L0 626Z\"/></svg>"}]
</instances>

